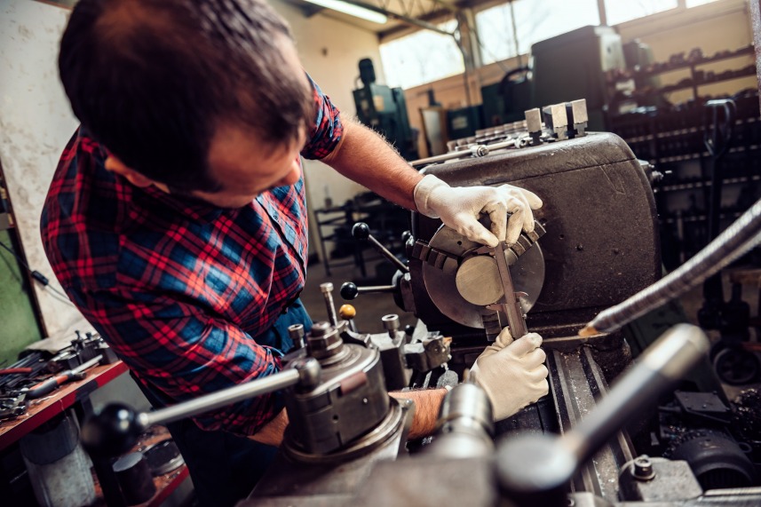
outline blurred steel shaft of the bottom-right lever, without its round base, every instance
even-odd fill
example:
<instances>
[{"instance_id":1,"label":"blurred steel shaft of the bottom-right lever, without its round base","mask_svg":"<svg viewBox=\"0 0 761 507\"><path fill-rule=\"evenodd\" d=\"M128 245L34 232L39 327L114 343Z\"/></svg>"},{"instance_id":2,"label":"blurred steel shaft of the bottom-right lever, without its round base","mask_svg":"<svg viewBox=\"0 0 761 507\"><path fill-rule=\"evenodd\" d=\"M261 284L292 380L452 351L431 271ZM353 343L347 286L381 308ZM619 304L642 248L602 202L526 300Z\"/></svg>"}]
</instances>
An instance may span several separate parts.
<instances>
[{"instance_id":1,"label":"blurred steel shaft of the bottom-right lever, without its round base","mask_svg":"<svg viewBox=\"0 0 761 507\"><path fill-rule=\"evenodd\" d=\"M647 348L583 421L560 439L578 463L586 462L626 421L686 375L709 351L702 329L678 324Z\"/></svg>"}]
</instances>

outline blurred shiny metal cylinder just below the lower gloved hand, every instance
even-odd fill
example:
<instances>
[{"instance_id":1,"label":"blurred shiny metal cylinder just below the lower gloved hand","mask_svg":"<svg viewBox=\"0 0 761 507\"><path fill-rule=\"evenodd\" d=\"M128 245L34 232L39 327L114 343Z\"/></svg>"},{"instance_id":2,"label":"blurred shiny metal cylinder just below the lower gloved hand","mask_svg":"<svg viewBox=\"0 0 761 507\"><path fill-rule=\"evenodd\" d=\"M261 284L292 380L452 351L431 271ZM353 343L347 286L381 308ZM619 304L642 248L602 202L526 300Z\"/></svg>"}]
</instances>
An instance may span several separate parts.
<instances>
[{"instance_id":1,"label":"blurred shiny metal cylinder just below the lower gloved hand","mask_svg":"<svg viewBox=\"0 0 761 507\"><path fill-rule=\"evenodd\" d=\"M479 385L457 384L448 392L436 426L426 454L457 459L486 457L494 452L491 402Z\"/></svg>"}]
</instances>

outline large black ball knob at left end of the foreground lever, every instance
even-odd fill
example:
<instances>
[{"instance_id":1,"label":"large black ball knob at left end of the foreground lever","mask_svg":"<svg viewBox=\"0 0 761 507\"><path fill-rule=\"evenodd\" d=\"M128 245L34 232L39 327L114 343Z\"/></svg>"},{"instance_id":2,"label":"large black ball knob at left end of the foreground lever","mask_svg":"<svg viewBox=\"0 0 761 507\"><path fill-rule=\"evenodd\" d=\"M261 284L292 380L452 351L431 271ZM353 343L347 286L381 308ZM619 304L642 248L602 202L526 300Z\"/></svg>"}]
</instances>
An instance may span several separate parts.
<instances>
[{"instance_id":1,"label":"large black ball knob at left end of the foreground lever","mask_svg":"<svg viewBox=\"0 0 761 507\"><path fill-rule=\"evenodd\" d=\"M135 410L112 403L84 423L82 443L92 456L119 456L129 451L145 430Z\"/></svg>"}]
</instances>

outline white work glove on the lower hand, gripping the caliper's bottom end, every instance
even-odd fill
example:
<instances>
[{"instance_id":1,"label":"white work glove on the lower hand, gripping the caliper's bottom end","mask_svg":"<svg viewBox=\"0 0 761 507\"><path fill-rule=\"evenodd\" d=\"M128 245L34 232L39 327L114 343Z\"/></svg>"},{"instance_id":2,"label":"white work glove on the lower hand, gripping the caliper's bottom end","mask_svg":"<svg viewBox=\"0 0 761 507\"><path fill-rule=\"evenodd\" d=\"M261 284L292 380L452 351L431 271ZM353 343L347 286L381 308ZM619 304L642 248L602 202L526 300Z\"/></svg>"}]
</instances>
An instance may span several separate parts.
<instances>
[{"instance_id":1,"label":"white work glove on the lower hand, gripping the caliper's bottom end","mask_svg":"<svg viewBox=\"0 0 761 507\"><path fill-rule=\"evenodd\" d=\"M508 328L489 345L471 368L471 377L487 392L495 421L517 413L550 392L546 355L536 333L513 341Z\"/></svg>"}]
</instances>

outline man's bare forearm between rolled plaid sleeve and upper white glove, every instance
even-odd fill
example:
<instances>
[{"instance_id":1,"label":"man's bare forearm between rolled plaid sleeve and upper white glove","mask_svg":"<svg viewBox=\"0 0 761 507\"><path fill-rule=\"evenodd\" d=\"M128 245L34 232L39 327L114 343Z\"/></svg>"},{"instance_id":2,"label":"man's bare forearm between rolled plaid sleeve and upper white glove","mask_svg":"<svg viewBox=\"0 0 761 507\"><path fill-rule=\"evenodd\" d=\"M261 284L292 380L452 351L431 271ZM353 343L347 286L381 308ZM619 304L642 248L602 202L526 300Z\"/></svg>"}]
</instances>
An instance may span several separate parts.
<instances>
[{"instance_id":1,"label":"man's bare forearm between rolled plaid sleeve and upper white glove","mask_svg":"<svg viewBox=\"0 0 761 507\"><path fill-rule=\"evenodd\" d=\"M423 176L376 132L351 120L337 147L321 159L330 167L391 202L417 210L413 193Z\"/></svg>"}]
</instances>

